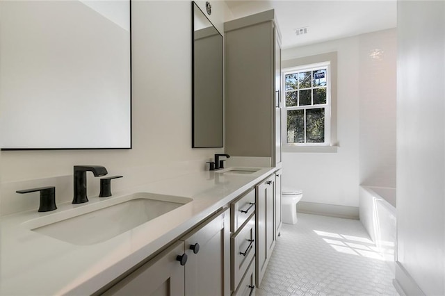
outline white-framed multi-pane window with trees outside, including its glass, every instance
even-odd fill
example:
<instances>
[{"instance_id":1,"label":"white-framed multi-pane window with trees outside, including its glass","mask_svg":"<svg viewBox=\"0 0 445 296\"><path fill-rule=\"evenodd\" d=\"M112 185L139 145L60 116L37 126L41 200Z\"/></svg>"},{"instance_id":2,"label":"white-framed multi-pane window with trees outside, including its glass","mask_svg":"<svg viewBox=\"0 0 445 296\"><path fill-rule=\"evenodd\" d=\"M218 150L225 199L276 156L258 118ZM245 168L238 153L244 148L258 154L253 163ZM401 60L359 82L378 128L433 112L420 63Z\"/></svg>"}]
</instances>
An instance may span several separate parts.
<instances>
[{"instance_id":1,"label":"white-framed multi-pane window with trees outside, including its glass","mask_svg":"<svg viewBox=\"0 0 445 296\"><path fill-rule=\"evenodd\" d=\"M330 145L330 62L284 70L287 145Z\"/></svg>"}]
</instances>

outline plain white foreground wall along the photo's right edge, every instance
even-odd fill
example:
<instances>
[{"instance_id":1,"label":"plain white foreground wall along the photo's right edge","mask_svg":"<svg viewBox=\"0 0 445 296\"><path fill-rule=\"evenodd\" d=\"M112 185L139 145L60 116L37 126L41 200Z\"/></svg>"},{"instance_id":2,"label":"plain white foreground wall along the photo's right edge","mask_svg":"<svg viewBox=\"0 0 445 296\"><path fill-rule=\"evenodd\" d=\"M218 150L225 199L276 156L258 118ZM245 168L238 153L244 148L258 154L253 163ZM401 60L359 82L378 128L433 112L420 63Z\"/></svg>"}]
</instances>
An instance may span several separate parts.
<instances>
[{"instance_id":1,"label":"plain white foreground wall along the photo's right edge","mask_svg":"<svg viewBox=\"0 0 445 296\"><path fill-rule=\"evenodd\" d=\"M396 280L445 295L445 2L398 1L397 25Z\"/></svg>"}]
</instances>

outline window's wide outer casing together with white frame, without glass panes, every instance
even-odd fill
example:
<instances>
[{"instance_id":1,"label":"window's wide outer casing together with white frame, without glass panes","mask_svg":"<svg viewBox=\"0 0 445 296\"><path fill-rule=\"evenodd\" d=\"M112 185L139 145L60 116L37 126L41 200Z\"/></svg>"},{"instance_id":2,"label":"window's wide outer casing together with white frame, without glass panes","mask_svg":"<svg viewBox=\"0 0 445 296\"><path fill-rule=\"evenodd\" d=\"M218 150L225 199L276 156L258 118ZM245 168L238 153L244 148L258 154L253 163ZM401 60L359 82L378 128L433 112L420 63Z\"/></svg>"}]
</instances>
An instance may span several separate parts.
<instances>
[{"instance_id":1,"label":"window's wide outer casing together with white frame, without glass panes","mask_svg":"<svg viewBox=\"0 0 445 296\"><path fill-rule=\"evenodd\" d=\"M286 88L285 75L293 72L302 72L304 69L325 66L327 69L327 102L329 110L325 110L325 142L323 143L288 143L287 142L287 110L298 108L288 108L286 106ZM326 66L325 66L326 67ZM340 147L337 140L337 51L314 56L304 56L300 58L291 58L282 60L282 149L283 152L321 152L337 153ZM321 105L325 106L325 105ZM310 108L317 108L318 105L312 105ZM305 106L307 108L307 106ZM326 107L325 107L326 108ZM301 109L301 108L300 108ZM305 119L306 120L306 119ZM305 135L306 136L306 135Z\"/></svg>"}]
</instances>

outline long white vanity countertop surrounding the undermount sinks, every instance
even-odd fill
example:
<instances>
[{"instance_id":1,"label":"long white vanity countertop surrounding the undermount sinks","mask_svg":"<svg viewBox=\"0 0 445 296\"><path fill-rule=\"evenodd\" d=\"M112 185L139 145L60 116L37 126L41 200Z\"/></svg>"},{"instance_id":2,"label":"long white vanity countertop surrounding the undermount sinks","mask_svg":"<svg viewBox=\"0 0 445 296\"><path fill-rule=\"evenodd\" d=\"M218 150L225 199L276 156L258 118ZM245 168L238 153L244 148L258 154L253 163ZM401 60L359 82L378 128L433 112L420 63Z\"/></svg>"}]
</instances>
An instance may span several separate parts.
<instances>
[{"instance_id":1,"label":"long white vanity countertop surrounding the undermount sinks","mask_svg":"<svg viewBox=\"0 0 445 296\"><path fill-rule=\"evenodd\" d=\"M58 204L56 211L38 213L35 209L1 217L0 295L90 295L275 170L265 167L252 174L194 172L113 192L113 197L88 197L86 204ZM73 209L92 208L134 192L177 195L193 201L94 245L73 245L26 227L39 217L68 217Z\"/></svg>"}]
</instances>

